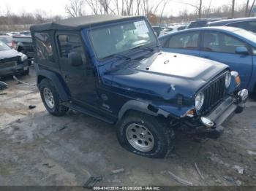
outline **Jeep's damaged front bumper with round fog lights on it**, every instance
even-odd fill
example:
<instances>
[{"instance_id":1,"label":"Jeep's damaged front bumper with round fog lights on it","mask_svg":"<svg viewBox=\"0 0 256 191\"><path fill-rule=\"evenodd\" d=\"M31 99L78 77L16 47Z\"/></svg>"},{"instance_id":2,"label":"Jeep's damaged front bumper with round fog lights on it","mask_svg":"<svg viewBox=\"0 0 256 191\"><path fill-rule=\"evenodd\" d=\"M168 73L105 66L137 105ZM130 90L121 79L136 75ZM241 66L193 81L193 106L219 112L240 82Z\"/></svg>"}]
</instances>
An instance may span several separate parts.
<instances>
[{"instance_id":1,"label":"Jeep's damaged front bumper with round fog lights on it","mask_svg":"<svg viewBox=\"0 0 256 191\"><path fill-rule=\"evenodd\" d=\"M200 117L200 125L195 127L195 133L200 136L217 139L224 130L222 123L230 120L236 113L241 113L248 98L248 90L241 90L236 97L228 97L210 114ZM198 123L197 123L198 124Z\"/></svg>"}]
</instances>

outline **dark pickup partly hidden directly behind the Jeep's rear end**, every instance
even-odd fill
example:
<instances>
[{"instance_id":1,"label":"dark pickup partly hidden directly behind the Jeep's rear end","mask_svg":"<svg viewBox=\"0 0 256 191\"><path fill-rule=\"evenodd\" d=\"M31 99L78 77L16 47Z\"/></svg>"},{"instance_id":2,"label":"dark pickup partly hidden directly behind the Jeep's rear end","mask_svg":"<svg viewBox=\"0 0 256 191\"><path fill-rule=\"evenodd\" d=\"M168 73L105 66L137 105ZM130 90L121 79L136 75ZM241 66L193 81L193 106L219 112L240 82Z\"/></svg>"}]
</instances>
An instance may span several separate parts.
<instances>
[{"instance_id":1,"label":"dark pickup partly hidden directly behind the Jeep's rear end","mask_svg":"<svg viewBox=\"0 0 256 191\"><path fill-rule=\"evenodd\" d=\"M23 52L29 58L29 65L34 58L34 49L31 36L12 36L12 47L18 52Z\"/></svg>"}]
</instances>

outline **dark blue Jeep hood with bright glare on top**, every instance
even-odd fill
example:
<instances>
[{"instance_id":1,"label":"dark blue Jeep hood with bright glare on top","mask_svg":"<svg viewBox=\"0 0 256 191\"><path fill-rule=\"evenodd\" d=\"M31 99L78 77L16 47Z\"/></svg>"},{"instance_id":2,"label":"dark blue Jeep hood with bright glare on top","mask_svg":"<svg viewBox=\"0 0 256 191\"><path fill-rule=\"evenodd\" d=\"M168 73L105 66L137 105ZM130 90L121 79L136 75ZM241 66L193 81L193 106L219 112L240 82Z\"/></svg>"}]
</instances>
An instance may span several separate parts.
<instances>
[{"instance_id":1,"label":"dark blue Jeep hood with bright glare on top","mask_svg":"<svg viewBox=\"0 0 256 191\"><path fill-rule=\"evenodd\" d=\"M177 95L192 97L203 85L228 66L191 55L157 52L129 67L104 75L112 86L169 100ZM121 68L121 67L120 67Z\"/></svg>"}]
</instances>

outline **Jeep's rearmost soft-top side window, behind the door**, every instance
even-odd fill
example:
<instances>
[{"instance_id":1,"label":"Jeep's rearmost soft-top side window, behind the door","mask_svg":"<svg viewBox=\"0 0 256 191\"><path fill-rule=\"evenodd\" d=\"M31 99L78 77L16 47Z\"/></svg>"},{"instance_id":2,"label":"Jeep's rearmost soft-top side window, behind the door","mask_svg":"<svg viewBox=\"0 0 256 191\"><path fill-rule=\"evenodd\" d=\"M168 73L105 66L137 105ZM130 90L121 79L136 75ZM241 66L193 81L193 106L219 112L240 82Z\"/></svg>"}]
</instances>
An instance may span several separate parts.
<instances>
[{"instance_id":1,"label":"Jeep's rearmost soft-top side window, behind the door","mask_svg":"<svg viewBox=\"0 0 256 191\"><path fill-rule=\"evenodd\" d=\"M50 42L50 35L47 33L34 34L37 58L42 61L54 62L53 47Z\"/></svg>"}]
</instances>

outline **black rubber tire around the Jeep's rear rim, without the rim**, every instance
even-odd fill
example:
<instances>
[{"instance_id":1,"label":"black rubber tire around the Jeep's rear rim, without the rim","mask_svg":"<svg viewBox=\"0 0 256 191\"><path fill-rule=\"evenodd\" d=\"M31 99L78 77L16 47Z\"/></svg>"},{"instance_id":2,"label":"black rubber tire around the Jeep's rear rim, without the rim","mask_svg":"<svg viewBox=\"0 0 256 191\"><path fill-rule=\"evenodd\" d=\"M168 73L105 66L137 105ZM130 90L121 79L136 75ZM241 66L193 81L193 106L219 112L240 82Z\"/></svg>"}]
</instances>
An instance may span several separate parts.
<instances>
[{"instance_id":1,"label":"black rubber tire around the Jeep's rear rim, without the rim","mask_svg":"<svg viewBox=\"0 0 256 191\"><path fill-rule=\"evenodd\" d=\"M53 108L50 108L48 104L45 102L45 96L44 96L44 89L48 88L51 93L53 94L54 99L54 106ZM45 108L50 114L53 114L54 116L63 116L67 113L69 110L66 106L61 105L61 99L59 98L59 93L56 90L56 87L54 87L53 82L50 81L50 79L42 79L42 81L39 84L39 91L42 98L42 102L45 105Z\"/></svg>"}]
</instances>

